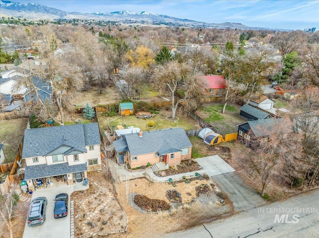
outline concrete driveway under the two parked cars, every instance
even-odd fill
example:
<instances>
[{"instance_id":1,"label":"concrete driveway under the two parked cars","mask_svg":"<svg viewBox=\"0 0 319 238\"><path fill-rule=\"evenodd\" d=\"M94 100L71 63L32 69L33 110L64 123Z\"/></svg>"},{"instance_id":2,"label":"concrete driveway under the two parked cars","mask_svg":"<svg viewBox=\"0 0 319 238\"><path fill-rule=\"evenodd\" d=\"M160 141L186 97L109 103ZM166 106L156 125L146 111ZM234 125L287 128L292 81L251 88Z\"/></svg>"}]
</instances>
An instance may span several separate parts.
<instances>
[{"instance_id":1,"label":"concrete driveway under the two parked cars","mask_svg":"<svg viewBox=\"0 0 319 238\"><path fill-rule=\"evenodd\" d=\"M32 199L37 197L46 197L48 204L46 207L45 221L43 224L29 227L25 223L23 238L69 238L70 237L70 195L73 192L73 186L63 185L54 188L37 189L32 193ZM54 198L59 193L69 195L69 214L64 218L54 219Z\"/></svg>"}]
</instances>

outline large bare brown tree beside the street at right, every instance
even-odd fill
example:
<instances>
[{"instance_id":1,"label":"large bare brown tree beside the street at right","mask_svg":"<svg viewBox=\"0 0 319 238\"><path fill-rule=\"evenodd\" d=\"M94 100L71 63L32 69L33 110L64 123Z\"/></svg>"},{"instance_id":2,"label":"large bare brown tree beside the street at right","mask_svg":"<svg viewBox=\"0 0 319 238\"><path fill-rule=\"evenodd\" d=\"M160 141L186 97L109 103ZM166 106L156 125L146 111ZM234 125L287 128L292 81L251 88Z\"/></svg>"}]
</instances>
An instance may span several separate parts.
<instances>
[{"instance_id":1,"label":"large bare brown tree beside the street at right","mask_svg":"<svg viewBox=\"0 0 319 238\"><path fill-rule=\"evenodd\" d=\"M277 119L276 119L277 120ZM249 133L249 146L252 152L248 156L238 154L242 166L246 167L252 175L255 174L261 181L261 195L264 196L267 185L271 180L277 179L292 184L294 179L302 176L304 166L301 151L301 137L292 133L292 123L286 120L276 121L264 137L254 137ZM246 139L243 139L246 140Z\"/></svg>"}]
</instances>

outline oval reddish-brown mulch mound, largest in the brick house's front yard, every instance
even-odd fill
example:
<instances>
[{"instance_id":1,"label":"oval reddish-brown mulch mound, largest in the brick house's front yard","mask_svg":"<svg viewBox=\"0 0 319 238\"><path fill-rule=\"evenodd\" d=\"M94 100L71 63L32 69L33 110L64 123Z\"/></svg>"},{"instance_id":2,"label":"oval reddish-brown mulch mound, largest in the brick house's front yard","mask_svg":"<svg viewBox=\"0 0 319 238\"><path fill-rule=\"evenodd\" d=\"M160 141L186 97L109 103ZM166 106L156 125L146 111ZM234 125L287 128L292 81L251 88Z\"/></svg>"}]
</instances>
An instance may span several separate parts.
<instances>
[{"instance_id":1,"label":"oval reddish-brown mulch mound, largest in the brick house's front yard","mask_svg":"<svg viewBox=\"0 0 319 238\"><path fill-rule=\"evenodd\" d=\"M134 196L134 203L141 209L149 212L168 210L170 206L163 200L151 199L142 194Z\"/></svg>"}]
</instances>

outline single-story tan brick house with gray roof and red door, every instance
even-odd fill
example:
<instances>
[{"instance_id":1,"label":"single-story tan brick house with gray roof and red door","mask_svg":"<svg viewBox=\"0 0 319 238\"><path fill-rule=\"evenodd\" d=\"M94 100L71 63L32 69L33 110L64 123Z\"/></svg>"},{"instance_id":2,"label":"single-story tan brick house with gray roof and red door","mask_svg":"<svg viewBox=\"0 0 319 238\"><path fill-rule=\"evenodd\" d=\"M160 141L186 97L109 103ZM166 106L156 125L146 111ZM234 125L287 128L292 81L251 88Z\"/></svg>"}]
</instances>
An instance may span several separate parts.
<instances>
[{"instance_id":1,"label":"single-story tan brick house with gray roof and red door","mask_svg":"<svg viewBox=\"0 0 319 238\"><path fill-rule=\"evenodd\" d=\"M161 161L169 166L179 164L190 159L192 148L182 128L129 133L114 141L113 146L118 164L126 162L131 168Z\"/></svg>"}]
</instances>

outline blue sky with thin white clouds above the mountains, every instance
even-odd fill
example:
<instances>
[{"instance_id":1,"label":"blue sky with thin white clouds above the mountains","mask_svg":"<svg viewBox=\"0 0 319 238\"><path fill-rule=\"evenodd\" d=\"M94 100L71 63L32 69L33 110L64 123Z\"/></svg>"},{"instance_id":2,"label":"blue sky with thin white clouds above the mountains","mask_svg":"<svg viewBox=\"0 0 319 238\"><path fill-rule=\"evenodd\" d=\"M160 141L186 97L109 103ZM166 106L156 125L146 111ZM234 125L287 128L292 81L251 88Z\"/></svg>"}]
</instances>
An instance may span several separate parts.
<instances>
[{"instance_id":1,"label":"blue sky with thin white clouds above the mountains","mask_svg":"<svg viewBox=\"0 0 319 238\"><path fill-rule=\"evenodd\" d=\"M233 22L251 27L319 30L319 0L11 0L64 11L148 11L206 23Z\"/></svg>"}]
</instances>

